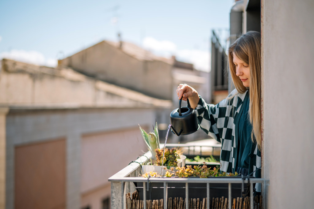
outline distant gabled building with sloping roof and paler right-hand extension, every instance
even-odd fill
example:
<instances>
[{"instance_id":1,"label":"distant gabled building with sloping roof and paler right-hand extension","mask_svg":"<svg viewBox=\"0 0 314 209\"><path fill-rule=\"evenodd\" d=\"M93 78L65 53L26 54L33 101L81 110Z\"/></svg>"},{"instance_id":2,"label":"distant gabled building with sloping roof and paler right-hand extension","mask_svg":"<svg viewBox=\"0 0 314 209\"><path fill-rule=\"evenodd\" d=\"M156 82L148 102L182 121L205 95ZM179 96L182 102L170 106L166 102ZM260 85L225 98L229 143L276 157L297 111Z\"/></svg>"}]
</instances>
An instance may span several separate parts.
<instances>
[{"instance_id":1,"label":"distant gabled building with sloping roof and paler right-hand extension","mask_svg":"<svg viewBox=\"0 0 314 209\"><path fill-rule=\"evenodd\" d=\"M195 70L192 64L180 62L175 56L170 59L156 56L128 42L101 41L59 60L59 66L168 100L176 94L179 81L197 85L195 88L208 82L208 76L203 77L202 72ZM208 95L206 92L204 97Z\"/></svg>"}]
</instances>

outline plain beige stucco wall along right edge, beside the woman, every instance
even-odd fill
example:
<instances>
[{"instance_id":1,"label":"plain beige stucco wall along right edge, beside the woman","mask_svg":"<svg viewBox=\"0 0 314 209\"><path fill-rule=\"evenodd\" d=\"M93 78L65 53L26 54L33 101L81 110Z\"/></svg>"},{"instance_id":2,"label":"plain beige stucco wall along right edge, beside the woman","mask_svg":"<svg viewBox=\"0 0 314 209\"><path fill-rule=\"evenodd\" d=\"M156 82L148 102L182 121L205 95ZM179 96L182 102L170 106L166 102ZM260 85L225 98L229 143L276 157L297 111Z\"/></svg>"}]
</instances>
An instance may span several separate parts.
<instances>
[{"instance_id":1,"label":"plain beige stucco wall along right edge, beside the woman","mask_svg":"<svg viewBox=\"0 0 314 209\"><path fill-rule=\"evenodd\" d=\"M267 208L314 206L314 1L262 1Z\"/></svg>"}]
</instances>

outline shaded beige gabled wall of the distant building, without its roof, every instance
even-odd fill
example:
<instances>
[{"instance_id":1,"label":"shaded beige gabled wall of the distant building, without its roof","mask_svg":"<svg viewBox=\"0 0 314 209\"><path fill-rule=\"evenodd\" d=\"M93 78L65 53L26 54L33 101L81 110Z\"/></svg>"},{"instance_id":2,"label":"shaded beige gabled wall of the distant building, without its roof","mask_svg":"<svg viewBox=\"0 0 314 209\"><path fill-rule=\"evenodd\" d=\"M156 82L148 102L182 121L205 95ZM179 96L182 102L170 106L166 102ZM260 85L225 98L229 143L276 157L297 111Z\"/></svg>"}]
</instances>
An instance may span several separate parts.
<instances>
[{"instance_id":1,"label":"shaded beige gabled wall of the distant building, without its roof","mask_svg":"<svg viewBox=\"0 0 314 209\"><path fill-rule=\"evenodd\" d=\"M106 41L63 59L60 65L150 96L172 96L172 65L160 60L139 60Z\"/></svg>"}]
</instances>

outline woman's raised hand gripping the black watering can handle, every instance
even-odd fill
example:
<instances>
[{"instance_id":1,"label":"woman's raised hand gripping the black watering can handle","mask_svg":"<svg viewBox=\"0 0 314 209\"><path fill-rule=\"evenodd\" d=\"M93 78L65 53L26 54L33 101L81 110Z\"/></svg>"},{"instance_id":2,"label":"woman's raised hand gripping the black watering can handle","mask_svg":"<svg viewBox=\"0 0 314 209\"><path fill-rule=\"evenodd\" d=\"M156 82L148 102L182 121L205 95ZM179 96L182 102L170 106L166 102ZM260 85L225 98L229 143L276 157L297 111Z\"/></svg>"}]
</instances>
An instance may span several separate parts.
<instances>
[{"instance_id":1,"label":"woman's raised hand gripping the black watering can handle","mask_svg":"<svg viewBox=\"0 0 314 209\"><path fill-rule=\"evenodd\" d=\"M178 98L184 101L187 101L187 98L189 99L190 105L193 109L196 108L198 101L199 101L199 96L198 92L193 89L191 86L187 84L180 84L176 90Z\"/></svg>"}]
</instances>

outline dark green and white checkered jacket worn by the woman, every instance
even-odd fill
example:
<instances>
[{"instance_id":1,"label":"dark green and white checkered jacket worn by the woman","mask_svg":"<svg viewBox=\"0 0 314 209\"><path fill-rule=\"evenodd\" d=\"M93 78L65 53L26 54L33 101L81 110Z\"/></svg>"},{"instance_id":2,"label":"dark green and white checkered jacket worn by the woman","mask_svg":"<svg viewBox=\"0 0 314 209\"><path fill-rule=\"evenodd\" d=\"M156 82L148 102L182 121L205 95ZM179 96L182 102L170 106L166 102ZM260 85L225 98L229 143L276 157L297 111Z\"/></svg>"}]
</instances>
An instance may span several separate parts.
<instances>
[{"instance_id":1,"label":"dark green and white checkered jacket worn by the woman","mask_svg":"<svg viewBox=\"0 0 314 209\"><path fill-rule=\"evenodd\" d=\"M198 123L205 133L221 142L220 162L221 171L235 173L237 161L238 133L237 127L242 114L242 103L245 95L235 89L230 95L216 105L206 104L200 97L196 113ZM261 178L261 152L256 143L252 143L249 174ZM251 174L252 175L252 174Z\"/></svg>"}]
</instances>

